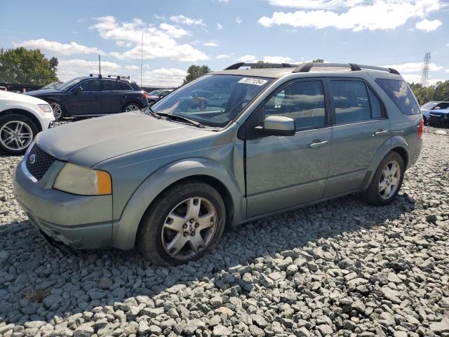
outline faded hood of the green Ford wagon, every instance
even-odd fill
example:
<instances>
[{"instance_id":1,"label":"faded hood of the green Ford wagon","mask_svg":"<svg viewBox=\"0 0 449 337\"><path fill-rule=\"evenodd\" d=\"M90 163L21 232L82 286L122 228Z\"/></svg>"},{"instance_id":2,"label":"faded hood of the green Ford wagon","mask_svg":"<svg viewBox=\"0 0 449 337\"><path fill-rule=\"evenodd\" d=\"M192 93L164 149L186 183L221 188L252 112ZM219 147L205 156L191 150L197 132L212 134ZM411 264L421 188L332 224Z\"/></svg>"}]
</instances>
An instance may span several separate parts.
<instances>
[{"instance_id":1,"label":"faded hood of the green Ford wagon","mask_svg":"<svg viewBox=\"0 0 449 337\"><path fill-rule=\"evenodd\" d=\"M93 166L121 154L210 132L213 131L156 119L141 112L125 112L48 129L36 136L36 143L62 161Z\"/></svg>"}]
</instances>

